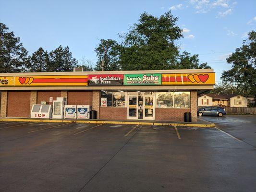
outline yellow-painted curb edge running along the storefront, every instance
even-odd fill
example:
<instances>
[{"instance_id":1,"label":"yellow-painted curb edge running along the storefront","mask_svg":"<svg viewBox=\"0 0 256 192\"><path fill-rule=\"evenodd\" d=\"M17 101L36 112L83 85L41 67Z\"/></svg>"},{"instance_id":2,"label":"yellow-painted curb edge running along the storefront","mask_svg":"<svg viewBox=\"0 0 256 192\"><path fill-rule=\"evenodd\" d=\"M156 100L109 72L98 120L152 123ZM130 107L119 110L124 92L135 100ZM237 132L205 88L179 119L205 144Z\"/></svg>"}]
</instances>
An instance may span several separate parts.
<instances>
[{"instance_id":1,"label":"yellow-painted curb edge running along the storefront","mask_svg":"<svg viewBox=\"0 0 256 192\"><path fill-rule=\"evenodd\" d=\"M0 119L0 121L22 121L22 122L51 122L51 123L104 123L104 124L139 124L139 125L159 125L159 126L185 126L185 127L215 127L211 124L196 123L158 123L158 122L137 122L137 121L107 121L107 120L35 120L35 119Z\"/></svg>"}]
</instances>

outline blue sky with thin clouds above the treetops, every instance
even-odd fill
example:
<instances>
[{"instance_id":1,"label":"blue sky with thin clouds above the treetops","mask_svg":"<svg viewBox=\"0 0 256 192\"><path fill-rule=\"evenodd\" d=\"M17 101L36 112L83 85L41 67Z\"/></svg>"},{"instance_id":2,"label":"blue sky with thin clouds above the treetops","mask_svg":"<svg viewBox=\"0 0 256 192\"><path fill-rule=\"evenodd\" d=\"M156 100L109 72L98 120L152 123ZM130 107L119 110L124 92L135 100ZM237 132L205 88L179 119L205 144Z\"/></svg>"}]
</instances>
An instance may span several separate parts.
<instances>
[{"instance_id":1,"label":"blue sky with thin clouds above the treetops","mask_svg":"<svg viewBox=\"0 0 256 192\"><path fill-rule=\"evenodd\" d=\"M256 0L0 0L0 22L21 38L29 54L39 47L69 46L77 60L97 60L99 40L120 40L142 12L160 16L171 9L184 38L181 51L199 54L216 72L225 58L256 30Z\"/></svg>"}]
</instances>

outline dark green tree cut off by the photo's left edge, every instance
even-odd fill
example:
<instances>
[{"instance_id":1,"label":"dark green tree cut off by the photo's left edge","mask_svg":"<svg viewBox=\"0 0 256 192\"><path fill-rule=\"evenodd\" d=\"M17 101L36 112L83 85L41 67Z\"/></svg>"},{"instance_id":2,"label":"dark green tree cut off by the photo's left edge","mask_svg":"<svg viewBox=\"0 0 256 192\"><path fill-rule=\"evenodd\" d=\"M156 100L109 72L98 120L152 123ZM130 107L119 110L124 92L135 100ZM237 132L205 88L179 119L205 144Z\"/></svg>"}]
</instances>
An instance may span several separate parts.
<instances>
[{"instance_id":1,"label":"dark green tree cut off by the photo's left edge","mask_svg":"<svg viewBox=\"0 0 256 192\"><path fill-rule=\"evenodd\" d=\"M0 23L0 72L26 72L29 60L20 38Z\"/></svg>"}]
</instances>

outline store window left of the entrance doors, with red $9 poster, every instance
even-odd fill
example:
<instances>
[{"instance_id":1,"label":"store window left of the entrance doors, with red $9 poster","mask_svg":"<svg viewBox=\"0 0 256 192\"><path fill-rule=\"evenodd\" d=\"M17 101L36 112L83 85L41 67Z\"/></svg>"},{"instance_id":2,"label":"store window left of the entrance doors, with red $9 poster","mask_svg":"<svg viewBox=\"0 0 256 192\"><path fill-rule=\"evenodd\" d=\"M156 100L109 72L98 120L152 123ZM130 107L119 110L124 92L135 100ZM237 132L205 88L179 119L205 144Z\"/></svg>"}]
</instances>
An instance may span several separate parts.
<instances>
[{"instance_id":1,"label":"store window left of the entrance doors, with red $9 poster","mask_svg":"<svg viewBox=\"0 0 256 192\"><path fill-rule=\"evenodd\" d=\"M125 107L125 92L100 91L100 107Z\"/></svg>"}]
</instances>

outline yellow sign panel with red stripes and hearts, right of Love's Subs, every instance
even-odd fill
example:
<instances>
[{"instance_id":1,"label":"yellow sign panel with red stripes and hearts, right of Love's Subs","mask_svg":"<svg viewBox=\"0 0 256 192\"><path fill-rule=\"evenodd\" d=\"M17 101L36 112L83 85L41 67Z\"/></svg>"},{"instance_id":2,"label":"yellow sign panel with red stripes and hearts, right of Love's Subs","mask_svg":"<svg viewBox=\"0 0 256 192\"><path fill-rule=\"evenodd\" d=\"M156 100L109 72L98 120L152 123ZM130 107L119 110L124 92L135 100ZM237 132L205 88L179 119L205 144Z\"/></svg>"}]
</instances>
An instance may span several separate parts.
<instances>
[{"instance_id":1,"label":"yellow sign panel with red stripes and hearts, right of Love's Subs","mask_svg":"<svg viewBox=\"0 0 256 192\"><path fill-rule=\"evenodd\" d=\"M215 73L170 73L162 74L163 85L215 84Z\"/></svg>"}]
</instances>

